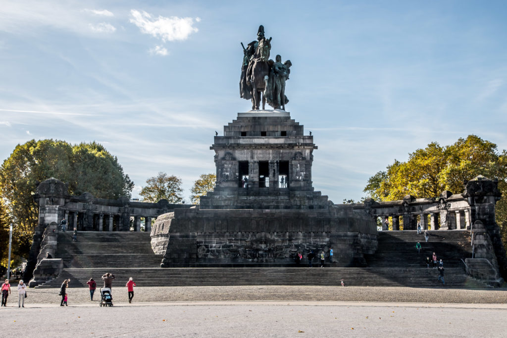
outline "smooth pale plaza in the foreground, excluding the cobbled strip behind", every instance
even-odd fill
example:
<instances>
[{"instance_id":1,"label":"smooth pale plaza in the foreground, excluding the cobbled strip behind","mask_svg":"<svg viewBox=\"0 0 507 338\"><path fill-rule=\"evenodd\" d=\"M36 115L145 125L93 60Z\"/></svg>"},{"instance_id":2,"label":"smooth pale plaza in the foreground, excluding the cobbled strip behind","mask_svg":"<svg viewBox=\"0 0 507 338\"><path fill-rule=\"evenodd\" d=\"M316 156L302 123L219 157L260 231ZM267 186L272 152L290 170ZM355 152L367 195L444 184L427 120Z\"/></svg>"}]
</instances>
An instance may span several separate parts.
<instances>
[{"instance_id":1,"label":"smooth pale plaza in the foreground, excluding the cobbled strip behind","mask_svg":"<svg viewBox=\"0 0 507 338\"><path fill-rule=\"evenodd\" d=\"M506 306L339 302L30 305L0 309L3 331L23 336L502 337Z\"/></svg>"}]
</instances>

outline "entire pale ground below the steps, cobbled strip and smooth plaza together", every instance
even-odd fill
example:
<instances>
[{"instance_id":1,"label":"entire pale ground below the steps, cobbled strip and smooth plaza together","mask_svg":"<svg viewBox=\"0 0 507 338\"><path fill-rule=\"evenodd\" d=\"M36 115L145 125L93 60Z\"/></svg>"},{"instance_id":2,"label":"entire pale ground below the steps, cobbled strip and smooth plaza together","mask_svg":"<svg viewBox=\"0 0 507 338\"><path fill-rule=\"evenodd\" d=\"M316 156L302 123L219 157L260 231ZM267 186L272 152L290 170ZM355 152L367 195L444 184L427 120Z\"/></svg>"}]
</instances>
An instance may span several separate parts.
<instances>
[{"instance_id":1,"label":"entire pale ground below the steps, cobbled strip and smooth plaza together","mask_svg":"<svg viewBox=\"0 0 507 338\"><path fill-rule=\"evenodd\" d=\"M21 309L13 294L8 307L0 308L0 329L58 337L502 337L507 332L507 290L153 287L136 289L135 302L128 304L124 288L114 288L112 308L90 302L86 289L68 291L69 306L63 308L56 289L30 289ZM392 303L385 303L388 299Z\"/></svg>"}]
</instances>

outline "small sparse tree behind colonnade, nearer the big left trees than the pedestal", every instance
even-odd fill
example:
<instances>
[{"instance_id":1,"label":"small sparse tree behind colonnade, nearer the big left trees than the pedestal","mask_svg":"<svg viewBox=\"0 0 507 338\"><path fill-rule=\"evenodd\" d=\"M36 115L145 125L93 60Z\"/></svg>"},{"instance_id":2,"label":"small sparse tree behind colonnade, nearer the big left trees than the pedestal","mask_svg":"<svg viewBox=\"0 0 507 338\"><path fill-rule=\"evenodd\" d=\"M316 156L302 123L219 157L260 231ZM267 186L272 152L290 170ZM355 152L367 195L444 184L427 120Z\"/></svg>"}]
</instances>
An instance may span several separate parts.
<instances>
[{"instance_id":1,"label":"small sparse tree behind colonnade, nearer the big left trees than the pedestal","mask_svg":"<svg viewBox=\"0 0 507 338\"><path fill-rule=\"evenodd\" d=\"M182 180L176 176L168 176L165 172L159 172L157 176L146 180L147 185L143 186L139 195L143 197L144 202L156 203L166 199L169 203L180 203L183 201L181 196L183 189Z\"/></svg>"}]
</instances>

